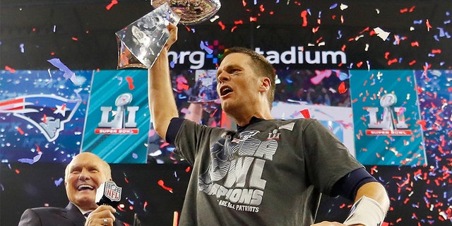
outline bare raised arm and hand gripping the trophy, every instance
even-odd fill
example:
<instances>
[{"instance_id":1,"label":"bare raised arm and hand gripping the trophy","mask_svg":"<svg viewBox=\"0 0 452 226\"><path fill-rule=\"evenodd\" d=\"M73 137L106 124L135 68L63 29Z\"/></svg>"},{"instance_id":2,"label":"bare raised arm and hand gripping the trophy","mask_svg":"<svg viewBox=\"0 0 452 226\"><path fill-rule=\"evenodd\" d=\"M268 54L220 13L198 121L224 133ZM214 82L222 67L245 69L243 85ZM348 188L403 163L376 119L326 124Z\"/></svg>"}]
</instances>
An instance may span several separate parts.
<instances>
[{"instance_id":1,"label":"bare raised arm and hand gripping the trophy","mask_svg":"<svg viewBox=\"0 0 452 226\"><path fill-rule=\"evenodd\" d=\"M169 76L169 47L177 40L177 26L167 26L170 36L152 68L148 69L148 98L150 116L155 132L165 138L169 121L179 117L177 105L172 93L171 78Z\"/></svg>"}]
</instances>

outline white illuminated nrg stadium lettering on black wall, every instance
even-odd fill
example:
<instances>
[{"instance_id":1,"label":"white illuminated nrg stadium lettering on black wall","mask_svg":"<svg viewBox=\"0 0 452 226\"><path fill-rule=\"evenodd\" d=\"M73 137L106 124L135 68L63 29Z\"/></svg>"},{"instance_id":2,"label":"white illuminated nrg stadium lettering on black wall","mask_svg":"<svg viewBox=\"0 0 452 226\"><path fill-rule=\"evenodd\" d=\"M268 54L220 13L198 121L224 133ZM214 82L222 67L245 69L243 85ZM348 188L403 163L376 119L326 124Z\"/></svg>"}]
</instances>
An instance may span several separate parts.
<instances>
[{"instance_id":1,"label":"white illuminated nrg stadium lettering on black wall","mask_svg":"<svg viewBox=\"0 0 452 226\"><path fill-rule=\"evenodd\" d=\"M210 49L211 50L211 49ZM294 66L299 64L311 65L343 65L347 64L347 55L343 51L307 51L304 47L290 47L290 50L278 52L275 50L263 51L260 47L254 49L258 54L262 54L270 64L283 64ZM189 65L189 69L203 69L205 66L215 66L219 63L218 56L208 54L203 51L181 51L168 52L169 61L172 66ZM210 64L210 65L207 65Z\"/></svg>"}]
</instances>

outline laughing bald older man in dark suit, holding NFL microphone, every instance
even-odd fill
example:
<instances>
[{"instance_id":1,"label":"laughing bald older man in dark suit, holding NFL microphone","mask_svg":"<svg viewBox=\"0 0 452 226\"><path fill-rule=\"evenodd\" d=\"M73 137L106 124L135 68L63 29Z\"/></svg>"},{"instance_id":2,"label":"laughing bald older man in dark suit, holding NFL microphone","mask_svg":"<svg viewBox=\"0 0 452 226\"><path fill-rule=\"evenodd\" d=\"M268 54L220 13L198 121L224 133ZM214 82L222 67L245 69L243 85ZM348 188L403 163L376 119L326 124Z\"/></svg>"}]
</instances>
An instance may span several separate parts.
<instances>
[{"instance_id":1,"label":"laughing bald older man in dark suit, holding NFL microphone","mask_svg":"<svg viewBox=\"0 0 452 226\"><path fill-rule=\"evenodd\" d=\"M73 157L64 174L64 186L69 204L66 208L41 207L25 210L19 226L37 225L124 225L114 217L112 206L95 203L96 190L103 182L112 180L107 162L93 153Z\"/></svg>"}]
</instances>

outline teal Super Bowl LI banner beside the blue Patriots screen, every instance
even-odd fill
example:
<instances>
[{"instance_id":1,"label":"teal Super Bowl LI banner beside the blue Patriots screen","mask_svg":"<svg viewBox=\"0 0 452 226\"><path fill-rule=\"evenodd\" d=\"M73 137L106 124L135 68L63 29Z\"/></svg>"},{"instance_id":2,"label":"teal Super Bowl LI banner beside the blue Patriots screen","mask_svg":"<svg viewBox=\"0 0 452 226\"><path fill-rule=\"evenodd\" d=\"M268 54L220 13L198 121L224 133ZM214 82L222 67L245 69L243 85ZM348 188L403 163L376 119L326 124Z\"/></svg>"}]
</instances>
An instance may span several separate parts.
<instances>
[{"instance_id":1,"label":"teal Super Bowl LI banner beside the blue Patriots screen","mask_svg":"<svg viewBox=\"0 0 452 226\"><path fill-rule=\"evenodd\" d=\"M146 163L149 107L146 70L93 75L82 150L110 163Z\"/></svg>"}]
</instances>

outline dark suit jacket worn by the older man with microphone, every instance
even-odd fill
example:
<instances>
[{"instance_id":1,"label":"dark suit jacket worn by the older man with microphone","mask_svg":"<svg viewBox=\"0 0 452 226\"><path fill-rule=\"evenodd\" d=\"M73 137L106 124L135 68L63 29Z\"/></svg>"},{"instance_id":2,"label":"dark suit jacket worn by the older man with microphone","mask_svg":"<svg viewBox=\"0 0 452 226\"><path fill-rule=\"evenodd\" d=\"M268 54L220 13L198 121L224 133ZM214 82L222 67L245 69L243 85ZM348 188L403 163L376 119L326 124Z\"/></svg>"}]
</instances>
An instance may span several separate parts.
<instances>
[{"instance_id":1,"label":"dark suit jacket worn by the older man with microphone","mask_svg":"<svg viewBox=\"0 0 452 226\"><path fill-rule=\"evenodd\" d=\"M18 226L83 226L85 216L76 206L69 203L66 208L40 207L23 212ZM124 226L120 220L114 221L115 226Z\"/></svg>"}]
</instances>

